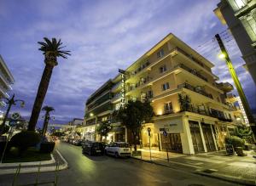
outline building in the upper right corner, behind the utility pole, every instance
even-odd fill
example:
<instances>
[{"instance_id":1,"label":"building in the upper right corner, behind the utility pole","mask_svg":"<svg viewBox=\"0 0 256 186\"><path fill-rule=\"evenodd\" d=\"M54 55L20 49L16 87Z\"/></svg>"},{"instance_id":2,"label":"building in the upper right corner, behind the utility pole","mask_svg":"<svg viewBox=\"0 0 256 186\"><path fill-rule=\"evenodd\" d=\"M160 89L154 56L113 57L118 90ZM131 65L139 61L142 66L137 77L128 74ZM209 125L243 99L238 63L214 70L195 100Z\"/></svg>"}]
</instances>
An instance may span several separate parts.
<instances>
[{"instance_id":1,"label":"building in the upper right corner, behind the utility pole","mask_svg":"<svg viewBox=\"0 0 256 186\"><path fill-rule=\"evenodd\" d=\"M229 29L256 84L256 1L221 0L214 13Z\"/></svg>"}]
</instances>

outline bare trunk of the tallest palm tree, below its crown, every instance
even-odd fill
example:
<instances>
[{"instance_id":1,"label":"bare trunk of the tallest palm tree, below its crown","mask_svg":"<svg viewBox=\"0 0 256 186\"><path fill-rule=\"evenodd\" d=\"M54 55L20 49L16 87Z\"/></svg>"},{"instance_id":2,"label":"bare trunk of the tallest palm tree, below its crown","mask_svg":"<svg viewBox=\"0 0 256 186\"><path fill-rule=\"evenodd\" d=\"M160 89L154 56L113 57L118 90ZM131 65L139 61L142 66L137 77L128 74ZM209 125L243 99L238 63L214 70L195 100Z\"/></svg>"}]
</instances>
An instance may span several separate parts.
<instances>
[{"instance_id":1,"label":"bare trunk of the tallest palm tree, below its crown","mask_svg":"<svg viewBox=\"0 0 256 186\"><path fill-rule=\"evenodd\" d=\"M37 125L38 117L39 117L39 114L40 114L40 111L42 108L42 104L44 102L45 94L46 94L48 86L49 86L49 80L50 80L50 76L52 74L53 68L54 68L54 65L48 65L48 64L45 65L44 73L43 73L41 82L38 87L37 97L36 97L34 105L33 105L32 115L31 115L30 121L28 123L28 127L27 127L28 131L34 131L35 127Z\"/></svg>"}]
</instances>

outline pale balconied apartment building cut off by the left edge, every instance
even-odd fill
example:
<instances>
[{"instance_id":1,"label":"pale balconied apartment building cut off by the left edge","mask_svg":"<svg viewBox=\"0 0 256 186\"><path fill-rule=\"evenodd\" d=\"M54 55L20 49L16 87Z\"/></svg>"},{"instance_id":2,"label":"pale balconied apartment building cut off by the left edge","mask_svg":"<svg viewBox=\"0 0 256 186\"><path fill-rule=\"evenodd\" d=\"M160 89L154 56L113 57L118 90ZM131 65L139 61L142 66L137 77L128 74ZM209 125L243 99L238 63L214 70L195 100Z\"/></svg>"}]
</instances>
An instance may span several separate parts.
<instances>
[{"instance_id":1,"label":"pale balconied apartment building cut off by the left edge","mask_svg":"<svg viewBox=\"0 0 256 186\"><path fill-rule=\"evenodd\" d=\"M11 84L14 84L14 82L14 76L12 76L9 68L0 55L0 98L9 98L8 92L12 89ZM6 105L3 100L0 101L0 114L3 113L4 106Z\"/></svg>"}]
</instances>

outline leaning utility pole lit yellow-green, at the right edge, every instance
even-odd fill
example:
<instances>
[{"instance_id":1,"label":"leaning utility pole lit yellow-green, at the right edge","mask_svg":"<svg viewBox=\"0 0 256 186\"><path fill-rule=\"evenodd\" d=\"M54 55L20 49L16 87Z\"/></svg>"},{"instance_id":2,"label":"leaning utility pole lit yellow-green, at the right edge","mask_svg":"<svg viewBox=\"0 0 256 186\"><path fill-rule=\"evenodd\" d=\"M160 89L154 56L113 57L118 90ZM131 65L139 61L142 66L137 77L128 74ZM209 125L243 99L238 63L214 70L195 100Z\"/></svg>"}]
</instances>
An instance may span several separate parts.
<instances>
[{"instance_id":1,"label":"leaning utility pole lit yellow-green, at the right edge","mask_svg":"<svg viewBox=\"0 0 256 186\"><path fill-rule=\"evenodd\" d=\"M230 57L229 57L229 54L228 54L226 48L224 47L224 43L222 42L221 38L219 37L218 34L215 35L215 38L217 39L219 48L221 49L221 52L222 52L222 54L224 56L226 64L228 65L228 68L230 70L230 75L232 76L233 81L235 82L236 90L237 90L237 92L238 92L238 94L240 96L241 104L244 107L245 113L247 114L247 118L248 118L250 127L251 127L251 129L253 131L254 136L256 136L255 121L254 121L252 112L250 110L250 106L249 106L249 104L247 102L247 98L245 96L245 93L242 90L241 83L240 83L240 81L239 81L239 79L238 79L238 77L236 75L236 70L234 69L234 67L232 65L232 62L231 62Z\"/></svg>"}]
</instances>

